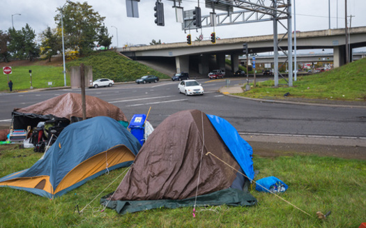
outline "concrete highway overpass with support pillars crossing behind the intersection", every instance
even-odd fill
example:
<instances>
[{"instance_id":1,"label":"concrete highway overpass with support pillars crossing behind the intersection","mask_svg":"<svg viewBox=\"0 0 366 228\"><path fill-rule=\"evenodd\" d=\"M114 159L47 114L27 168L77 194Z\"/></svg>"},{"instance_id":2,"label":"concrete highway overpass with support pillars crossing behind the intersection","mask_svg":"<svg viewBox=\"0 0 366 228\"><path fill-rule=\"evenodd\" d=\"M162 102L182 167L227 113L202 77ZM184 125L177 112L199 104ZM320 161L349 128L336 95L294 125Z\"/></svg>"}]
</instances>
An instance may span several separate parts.
<instances>
[{"instance_id":1,"label":"concrete highway overpass with support pillars crossing behind the intersection","mask_svg":"<svg viewBox=\"0 0 366 228\"><path fill-rule=\"evenodd\" d=\"M350 29L350 50L366 47L366 26ZM279 34L279 45L287 50L287 36ZM213 69L225 69L225 56L231 56L231 70L238 70L239 56L243 54L243 43L247 43L249 52L273 52L273 35L250 36L243 38L227 38L217 40L193 41L187 43L167 43L161 45L146 45L139 47L118 48L125 56L135 60L175 61L176 72L190 72L195 69L200 75L206 75ZM346 63L346 36L344 29L327 29L296 33L296 49L333 49L334 67ZM281 54L281 53L279 53ZM213 56L215 58L213 59ZM212 64L211 60L215 60ZM211 66L210 66L211 64Z\"/></svg>"}]
</instances>

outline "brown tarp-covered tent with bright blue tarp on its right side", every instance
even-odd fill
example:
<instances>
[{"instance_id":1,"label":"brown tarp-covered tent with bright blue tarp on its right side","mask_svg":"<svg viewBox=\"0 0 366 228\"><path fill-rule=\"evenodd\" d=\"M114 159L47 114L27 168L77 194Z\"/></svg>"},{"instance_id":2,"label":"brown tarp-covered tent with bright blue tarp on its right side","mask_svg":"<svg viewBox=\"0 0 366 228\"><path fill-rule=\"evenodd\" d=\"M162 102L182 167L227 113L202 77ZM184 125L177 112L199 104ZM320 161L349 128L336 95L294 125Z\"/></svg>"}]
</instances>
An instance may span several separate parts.
<instances>
[{"instance_id":1,"label":"brown tarp-covered tent with bright blue tarp on its right side","mask_svg":"<svg viewBox=\"0 0 366 228\"><path fill-rule=\"evenodd\" d=\"M196 196L197 206L256 204L243 190L250 181L233 168L254 177L252 147L235 128L199 110L177 112L155 128L119 187L101 204L118 213L192 206Z\"/></svg>"}]
</instances>

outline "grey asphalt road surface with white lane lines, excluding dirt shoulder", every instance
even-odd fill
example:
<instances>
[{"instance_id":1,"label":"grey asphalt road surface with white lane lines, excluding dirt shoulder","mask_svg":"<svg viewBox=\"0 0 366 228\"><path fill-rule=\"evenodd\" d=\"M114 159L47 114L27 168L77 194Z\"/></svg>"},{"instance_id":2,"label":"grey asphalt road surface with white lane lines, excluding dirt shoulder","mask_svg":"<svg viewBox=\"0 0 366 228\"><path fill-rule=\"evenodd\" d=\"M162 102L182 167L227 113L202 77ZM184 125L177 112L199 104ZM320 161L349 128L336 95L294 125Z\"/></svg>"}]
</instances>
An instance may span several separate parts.
<instances>
[{"instance_id":1,"label":"grey asphalt road surface with white lane lines, excluding dirt shoulder","mask_svg":"<svg viewBox=\"0 0 366 228\"><path fill-rule=\"evenodd\" d=\"M259 78L259 80L261 80ZM151 84L116 84L111 88L86 89L121 108L128 119L133 114L147 114L157 127L167 116L185 109L199 109L221 116L238 132L245 134L303 135L326 137L365 137L366 110L363 108L323 107L312 105L258 102L224 96L218 92L225 79L198 79L204 96L178 93L178 82L160 81ZM245 83L245 78L231 79L231 84ZM0 124L9 126L15 107L27 107L63 93L80 93L79 89L0 93Z\"/></svg>"}]
</instances>

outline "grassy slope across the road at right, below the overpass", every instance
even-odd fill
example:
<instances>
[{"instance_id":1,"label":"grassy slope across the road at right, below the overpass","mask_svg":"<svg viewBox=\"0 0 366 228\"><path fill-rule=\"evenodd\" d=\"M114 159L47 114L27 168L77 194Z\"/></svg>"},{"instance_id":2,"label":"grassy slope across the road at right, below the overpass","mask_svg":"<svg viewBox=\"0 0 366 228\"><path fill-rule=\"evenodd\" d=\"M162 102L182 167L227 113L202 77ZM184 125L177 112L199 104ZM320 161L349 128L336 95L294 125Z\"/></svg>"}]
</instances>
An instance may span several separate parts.
<instances>
[{"instance_id":1,"label":"grassy slope across the road at right, below the overpass","mask_svg":"<svg viewBox=\"0 0 366 228\"><path fill-rule=\"evenodd\" d=\"M279 84L287 84L280 79ZM245 86L243 87L245 89ZM293 86L274 87L274 81L257 83L250 91L237 93L250 98L311 98L328 100L366 101L366 58L328 72L297 77Z\"/></svg>"}]
</instances>

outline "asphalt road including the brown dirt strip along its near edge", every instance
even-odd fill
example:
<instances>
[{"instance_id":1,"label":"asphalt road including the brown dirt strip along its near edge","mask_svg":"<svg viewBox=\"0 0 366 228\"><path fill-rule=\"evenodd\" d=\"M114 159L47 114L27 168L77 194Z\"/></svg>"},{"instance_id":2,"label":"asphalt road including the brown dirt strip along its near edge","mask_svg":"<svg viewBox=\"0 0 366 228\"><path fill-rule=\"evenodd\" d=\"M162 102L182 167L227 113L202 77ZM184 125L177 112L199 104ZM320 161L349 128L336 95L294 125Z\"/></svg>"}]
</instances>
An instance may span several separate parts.
<instances>
[{"instance_id":1,"label":"asphalt road including the brown dirt strip along its near edge","mask_svg":"<svg viewBox=\"0 0 366 228\"><path fill-rule=\"evenodd\" d=\"M263 80L265 78L259 78ZM309 151L337 157L366 159L366 109L259 102L219 93L225 79L198 79L204 96L178 93L178 83L160 81L151 84L116 84L112 87L86 89L121 108L128 119L134 114L147 114L156 128L167 116L185 109L199 109L221 116L242 137L254 145L257 153L275 155L275 151ZM243 84L246 78L230 79L230 84ZM9 126L15 107L27 107L63 93L81 93L80 89L57 89L0 93L0 126ZM312 146L309 146L309 145ZM306 146L303 146L306 145Z\"/></svg>"}]
</instances>

